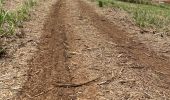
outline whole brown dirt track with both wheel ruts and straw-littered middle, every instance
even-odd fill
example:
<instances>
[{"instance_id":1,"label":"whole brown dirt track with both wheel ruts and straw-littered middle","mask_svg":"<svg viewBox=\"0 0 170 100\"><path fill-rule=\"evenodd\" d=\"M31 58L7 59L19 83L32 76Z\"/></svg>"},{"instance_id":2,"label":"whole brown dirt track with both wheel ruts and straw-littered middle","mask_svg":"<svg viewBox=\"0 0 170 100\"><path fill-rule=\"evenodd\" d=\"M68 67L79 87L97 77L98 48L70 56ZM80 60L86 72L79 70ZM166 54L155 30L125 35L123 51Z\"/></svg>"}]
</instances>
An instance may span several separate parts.
<instances>
[{"instance_id":1,"label":"whole brown dirt track with both wheel ruts and straw-littered middle","mask_svg":"<svg viewBox=\"0 0 170 100\"><path fill-rule=\"evenodd\" d=\"M87 1L58 0L13 100L169 100L170 59L119 30Z\"/></svg>"}]
</instances>

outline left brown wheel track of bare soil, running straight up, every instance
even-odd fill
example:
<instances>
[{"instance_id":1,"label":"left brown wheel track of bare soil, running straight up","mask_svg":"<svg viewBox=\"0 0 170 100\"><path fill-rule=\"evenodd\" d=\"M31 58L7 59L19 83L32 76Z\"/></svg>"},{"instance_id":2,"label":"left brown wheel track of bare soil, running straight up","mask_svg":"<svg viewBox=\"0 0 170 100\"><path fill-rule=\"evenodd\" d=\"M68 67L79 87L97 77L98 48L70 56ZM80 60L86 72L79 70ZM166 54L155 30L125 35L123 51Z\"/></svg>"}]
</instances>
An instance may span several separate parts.
<instances>
[{"instance_id":1,"label":"left brown wheel track of bare soil, running straight up","mask_svg":"<svg viewBox=\"0 0 170 100\"><path fill-rule=\"evenodd\" d=\"M74 89L54 87L71 83L66 57L65 0L52 7L38 45L39 51L30 61L28 80L16 100L73 100Z\"/></svg>"}]
</instances>

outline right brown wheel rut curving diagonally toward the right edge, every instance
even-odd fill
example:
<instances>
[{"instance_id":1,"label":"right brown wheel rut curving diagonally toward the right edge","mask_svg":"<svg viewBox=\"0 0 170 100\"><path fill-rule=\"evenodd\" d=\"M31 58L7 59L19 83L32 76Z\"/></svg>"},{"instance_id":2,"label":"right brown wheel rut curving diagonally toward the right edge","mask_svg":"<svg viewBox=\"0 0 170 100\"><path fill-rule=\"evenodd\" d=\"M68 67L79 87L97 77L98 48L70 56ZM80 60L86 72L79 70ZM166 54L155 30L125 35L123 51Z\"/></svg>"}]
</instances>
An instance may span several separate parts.
<instances>
[{"instance_id":1,"label":"right brown wheel rut curving diagonally toward the right edge","mask_svg":"<svg viewBox=\"0 0 170 100\"><path fill-rule=\"evenodd\" d=\"M157 55L154 51L146 48L139 40L135 39L136 37L129 37L129 33L120 30L105 17L97 14L94 9L84 1L80 0L79 6L83 16L89 16L92 25L96 27L101 34L109 37L111 41L117 44L116 49L119 53L125 54L124 58L133 60L143 67L150 67L158 72L160 71L170 79L170 58Z\"/></svg>"}]
</instances>

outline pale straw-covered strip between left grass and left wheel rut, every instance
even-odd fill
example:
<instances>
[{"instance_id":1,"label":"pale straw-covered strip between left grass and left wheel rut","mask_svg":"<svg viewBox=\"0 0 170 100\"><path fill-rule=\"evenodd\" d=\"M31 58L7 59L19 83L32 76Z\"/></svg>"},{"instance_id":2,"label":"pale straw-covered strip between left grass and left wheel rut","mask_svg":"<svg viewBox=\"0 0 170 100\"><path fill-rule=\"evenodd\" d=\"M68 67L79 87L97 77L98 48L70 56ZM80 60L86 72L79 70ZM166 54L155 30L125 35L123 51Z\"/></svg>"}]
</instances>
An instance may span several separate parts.
<instances>
[{"instance_id":1,"label":"pale straw-covered strip between left grass and left wheel rut","mask_svg":"<svg viewBox=\"0 0 170 100\"><path fill-rule=\"evenodd\" d=\"M19 2L19 1L18 1ZM37 50L49 8L56 0L39 0L31 12L31 20L18 29L18 36L1 38L7 47L7 55L0 59L0 100L13 98L27 80L27 62Z\"/></svg>"}]
</instances>

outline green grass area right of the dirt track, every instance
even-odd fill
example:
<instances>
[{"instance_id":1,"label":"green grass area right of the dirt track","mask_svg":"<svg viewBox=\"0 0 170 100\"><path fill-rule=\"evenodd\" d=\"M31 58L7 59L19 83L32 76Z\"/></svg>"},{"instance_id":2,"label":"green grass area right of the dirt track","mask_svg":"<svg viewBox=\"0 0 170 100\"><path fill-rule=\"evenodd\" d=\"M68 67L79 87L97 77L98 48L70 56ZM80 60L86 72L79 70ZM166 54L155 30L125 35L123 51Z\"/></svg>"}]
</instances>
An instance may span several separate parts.
<instances>
[{"instance_id":1,"label":"green grass area right of the dirt track","mask_svg":"<svg viewBox=\"0 0 170 100\"><path fill-rule=\"evenodd\" d=\"M170 5L136 4L118 0L100 0L105 5L127 11L140 27L152 27L158 31L170 31Z\"/></svg>"}]
</instances>

